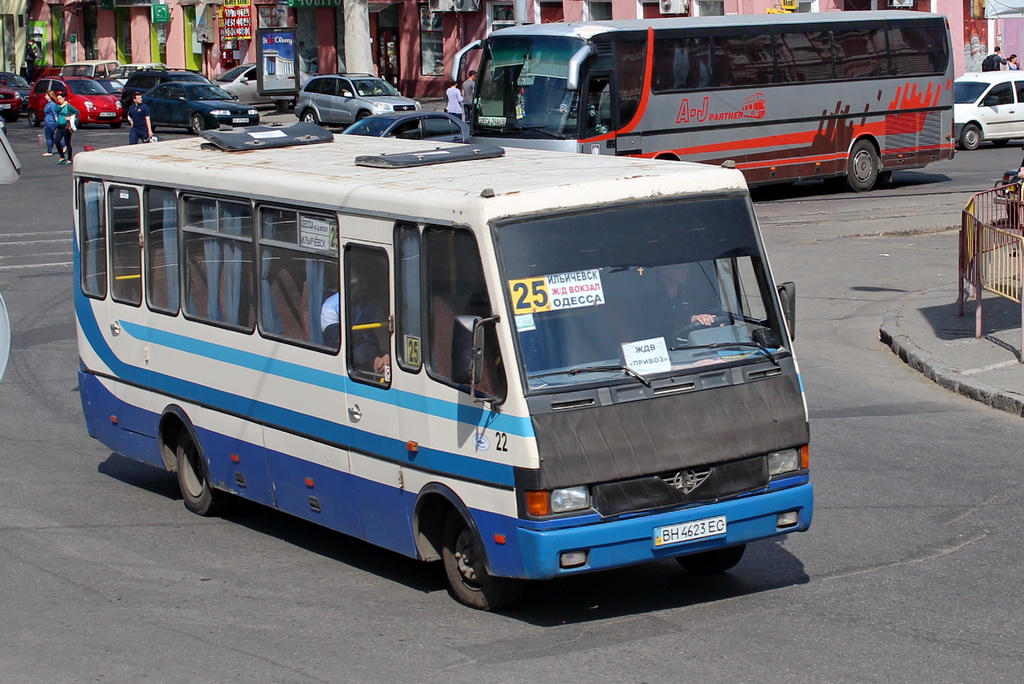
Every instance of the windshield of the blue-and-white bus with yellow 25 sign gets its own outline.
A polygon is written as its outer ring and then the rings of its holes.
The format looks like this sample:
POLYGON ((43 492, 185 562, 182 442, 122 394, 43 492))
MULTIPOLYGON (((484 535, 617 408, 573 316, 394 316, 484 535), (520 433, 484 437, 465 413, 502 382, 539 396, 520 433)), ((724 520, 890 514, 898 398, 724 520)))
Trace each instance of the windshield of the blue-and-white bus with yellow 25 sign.
POLYGON ((788 355, 742 198, 514 222, 497 241, 531 391, 788 355))

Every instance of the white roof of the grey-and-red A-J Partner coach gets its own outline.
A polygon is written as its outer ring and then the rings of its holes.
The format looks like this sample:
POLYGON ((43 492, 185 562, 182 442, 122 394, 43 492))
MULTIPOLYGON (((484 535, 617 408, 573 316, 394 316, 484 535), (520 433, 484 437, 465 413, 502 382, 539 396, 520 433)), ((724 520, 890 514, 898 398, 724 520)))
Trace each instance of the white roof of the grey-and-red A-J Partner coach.
MULTIPOLYGON (((712 29, 736 27, 775 27, 787 24, 852 24, 860 22, 897 22, 942 16, 906 10, 867 12, 793 12, 786 14, 728 14, 725 16, 676 16, 654 19, 622 19, 608 22, 571 22, 568 24, 528 24, 496 31, 496 36, 526 34, 530 36, 570 36, 593 38, 605 33, 671 29, 712 29)), ((944 18, 944 17, 943 17, 944 18)))

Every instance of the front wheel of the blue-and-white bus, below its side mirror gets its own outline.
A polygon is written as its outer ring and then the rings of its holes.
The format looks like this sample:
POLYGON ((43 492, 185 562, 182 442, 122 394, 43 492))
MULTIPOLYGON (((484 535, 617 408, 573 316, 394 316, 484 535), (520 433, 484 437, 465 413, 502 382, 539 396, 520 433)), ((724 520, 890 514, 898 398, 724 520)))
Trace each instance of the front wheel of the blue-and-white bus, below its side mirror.
POLYGON ((443 539, 441 559, 456 600, 479 610, 498 610, 519 596, 521 582, 487 572, 483 543, 459 513, 449 514, 443 539))

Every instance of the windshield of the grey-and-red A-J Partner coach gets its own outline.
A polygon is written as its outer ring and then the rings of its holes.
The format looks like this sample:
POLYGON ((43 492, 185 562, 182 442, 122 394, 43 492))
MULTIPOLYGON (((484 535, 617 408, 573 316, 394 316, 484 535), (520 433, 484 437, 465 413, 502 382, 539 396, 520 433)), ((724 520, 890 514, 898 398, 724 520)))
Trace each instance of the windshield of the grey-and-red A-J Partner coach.
POLYGON ((477 132, 516 137, 575 137, 579 91, 566 89, 577 38, 501 36, 487 39, 480 61, 477 132))

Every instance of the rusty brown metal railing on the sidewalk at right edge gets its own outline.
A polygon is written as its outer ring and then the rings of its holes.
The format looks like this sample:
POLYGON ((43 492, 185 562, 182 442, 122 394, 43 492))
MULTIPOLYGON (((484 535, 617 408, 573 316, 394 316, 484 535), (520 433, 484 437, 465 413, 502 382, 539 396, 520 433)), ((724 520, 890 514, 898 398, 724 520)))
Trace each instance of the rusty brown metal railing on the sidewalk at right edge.
MULTIPOLYGON (((975 338, 981 337, 983 290, 1021 304, 1024 339, 1024 202, 1021 183, 978 193, 961 218, 956 313, 964 315, 965 290, 975 301, 975 338)), ((1024 354, 1021 355, 1024 362, 1024 354)))

